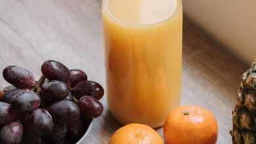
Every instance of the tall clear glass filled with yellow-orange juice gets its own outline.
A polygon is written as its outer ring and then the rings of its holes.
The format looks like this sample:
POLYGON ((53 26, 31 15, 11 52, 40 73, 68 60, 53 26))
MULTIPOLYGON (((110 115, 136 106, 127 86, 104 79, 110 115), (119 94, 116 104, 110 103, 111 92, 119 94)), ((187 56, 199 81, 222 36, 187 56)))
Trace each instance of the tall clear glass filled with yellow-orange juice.
POLYGON ((181 100, 181 0, 104 0, 108 107, 158 128, 181 100))

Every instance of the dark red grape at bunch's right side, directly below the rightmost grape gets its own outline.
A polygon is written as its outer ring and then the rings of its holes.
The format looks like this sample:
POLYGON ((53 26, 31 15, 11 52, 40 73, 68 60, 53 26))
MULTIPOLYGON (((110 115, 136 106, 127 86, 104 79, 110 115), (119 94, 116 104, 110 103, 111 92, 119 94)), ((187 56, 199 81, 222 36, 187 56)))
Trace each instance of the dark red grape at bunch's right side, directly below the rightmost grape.
POLYGON ((83 96, 79 99, 78 105, 83 117, 96 118, 103 112, 103 105, 91 96, 83 96))

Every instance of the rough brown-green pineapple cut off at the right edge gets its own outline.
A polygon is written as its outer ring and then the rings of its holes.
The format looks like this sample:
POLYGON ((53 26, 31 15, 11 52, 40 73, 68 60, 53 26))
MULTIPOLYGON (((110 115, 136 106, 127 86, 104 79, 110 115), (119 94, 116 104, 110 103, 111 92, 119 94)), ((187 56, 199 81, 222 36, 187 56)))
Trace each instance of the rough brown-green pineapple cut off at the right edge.
POLYGON ((232 117, 230 134, 233 144, 256 144, 256 60, 242 75, 232 117))

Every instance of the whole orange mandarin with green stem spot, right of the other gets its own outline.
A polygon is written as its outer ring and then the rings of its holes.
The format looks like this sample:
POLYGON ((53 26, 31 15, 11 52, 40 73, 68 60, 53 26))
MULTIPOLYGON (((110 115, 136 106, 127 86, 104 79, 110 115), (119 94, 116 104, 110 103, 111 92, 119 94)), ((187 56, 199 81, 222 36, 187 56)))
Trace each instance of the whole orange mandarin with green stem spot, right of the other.
POLYGON ((217 120, 211 111, 199 105, 177 107, 163 126, 167 144, 215 144, 217 120))

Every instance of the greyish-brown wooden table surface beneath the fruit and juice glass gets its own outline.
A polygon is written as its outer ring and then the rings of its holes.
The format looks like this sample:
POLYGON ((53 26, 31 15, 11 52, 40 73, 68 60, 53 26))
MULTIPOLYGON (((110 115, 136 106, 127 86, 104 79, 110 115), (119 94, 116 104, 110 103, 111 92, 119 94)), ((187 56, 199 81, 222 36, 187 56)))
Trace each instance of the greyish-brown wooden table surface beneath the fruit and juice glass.
MULTIPOLYGON (((100 5, 100 0, 1 0, 0 71, 21 65, 38 78, 41 63, 53 59, 83 69, 89 79, 104 85, 100 5)), ((227 144, 236 90, 246 66, 222 47, 184 18, 182 104, 213 111, 219 122, 218 143, 227 144)), ((3 77, 0 82, 7 84, 3 77)), ((85 143, 108 143, 121 126, 108 112, 106 96, 102 102, 104 115, 95 120, 85 143)))

